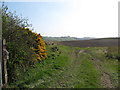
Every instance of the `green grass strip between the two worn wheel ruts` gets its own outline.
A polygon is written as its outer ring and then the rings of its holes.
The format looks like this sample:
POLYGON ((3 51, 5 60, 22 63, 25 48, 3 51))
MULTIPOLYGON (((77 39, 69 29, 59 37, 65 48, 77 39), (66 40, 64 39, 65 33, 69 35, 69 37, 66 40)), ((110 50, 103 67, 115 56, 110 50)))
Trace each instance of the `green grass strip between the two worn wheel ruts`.
POLYGON ((82 53, 80 55, 81 65, 78 72, 78 84, 75 88, 100 88, 100 72, 96 69, 89 55, 82 53))

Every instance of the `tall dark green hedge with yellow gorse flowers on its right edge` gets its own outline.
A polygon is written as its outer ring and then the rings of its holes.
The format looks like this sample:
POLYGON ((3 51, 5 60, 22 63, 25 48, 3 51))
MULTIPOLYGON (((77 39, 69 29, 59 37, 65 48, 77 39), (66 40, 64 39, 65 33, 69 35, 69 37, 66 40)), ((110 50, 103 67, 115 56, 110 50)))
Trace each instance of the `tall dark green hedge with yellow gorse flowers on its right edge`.
POLYGON ((27 68, 46 58, 46 46, 40 34, 30 30, 27 19, 8 11, 2 4, 2 37, 9 51, 7 61, 8 82, 19 80, 27 68))

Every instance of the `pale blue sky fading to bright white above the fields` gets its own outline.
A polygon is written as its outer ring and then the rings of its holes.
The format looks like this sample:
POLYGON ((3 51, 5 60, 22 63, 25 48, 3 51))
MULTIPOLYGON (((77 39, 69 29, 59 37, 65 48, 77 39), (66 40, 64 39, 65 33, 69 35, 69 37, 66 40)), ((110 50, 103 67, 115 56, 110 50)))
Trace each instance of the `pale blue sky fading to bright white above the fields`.
POLYGON ((10 11, 28 17, 34 31, 42 36, 118 36, 119 0, 4 1, 9 1, 10 11))

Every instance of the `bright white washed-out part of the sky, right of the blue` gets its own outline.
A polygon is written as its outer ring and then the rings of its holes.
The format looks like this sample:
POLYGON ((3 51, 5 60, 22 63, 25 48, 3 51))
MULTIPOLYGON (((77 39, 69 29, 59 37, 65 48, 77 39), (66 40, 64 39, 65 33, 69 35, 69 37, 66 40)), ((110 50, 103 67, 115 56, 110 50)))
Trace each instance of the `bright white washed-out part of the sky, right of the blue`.
POLYGON ((74 0, 72 10, 56 27, 59 33, 83 37, 118 36, 118 2, 115 0, 74 0))

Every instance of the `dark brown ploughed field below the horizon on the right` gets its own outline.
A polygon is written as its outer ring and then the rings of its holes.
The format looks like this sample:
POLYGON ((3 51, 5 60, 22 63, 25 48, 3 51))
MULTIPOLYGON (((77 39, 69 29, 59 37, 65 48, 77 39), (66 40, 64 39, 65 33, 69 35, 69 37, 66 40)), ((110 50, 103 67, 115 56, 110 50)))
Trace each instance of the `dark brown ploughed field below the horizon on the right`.
POLYGON ((91 40, 62 41, 61 44, 74 47, 113 47, 118 46, 118 42, 120 42, 120 38, 100 38, 91 40))

